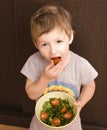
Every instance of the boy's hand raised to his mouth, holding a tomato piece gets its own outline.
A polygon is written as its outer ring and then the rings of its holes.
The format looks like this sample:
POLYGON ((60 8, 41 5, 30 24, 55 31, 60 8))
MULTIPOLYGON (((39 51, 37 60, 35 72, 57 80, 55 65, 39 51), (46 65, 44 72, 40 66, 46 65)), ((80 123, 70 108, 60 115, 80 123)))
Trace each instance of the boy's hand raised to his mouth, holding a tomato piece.
POLYGON ((42 76, 47 80, 52 80, 57 78, 63 69, 64 67, 62 61, 60 61, 57 65, 54 65, 53 60, 51 60, 50 64, 45 68, 42 76))

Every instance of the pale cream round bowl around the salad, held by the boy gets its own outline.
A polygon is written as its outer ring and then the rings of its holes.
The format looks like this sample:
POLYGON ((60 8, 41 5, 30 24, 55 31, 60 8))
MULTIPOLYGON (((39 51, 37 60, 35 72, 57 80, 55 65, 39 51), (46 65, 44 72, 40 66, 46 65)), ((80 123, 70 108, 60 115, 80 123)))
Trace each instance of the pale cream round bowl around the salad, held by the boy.
POLYGON ((76 119, 76 116, 78 114, 78 107, 77 105, 74 104, 74 98, 68 94, 68 93, 65 93, 65 92, 50 92, 50 93, 47 93, 45 95, 43 95, 36 103, 36 106, 35 106, 35 114, 38 118, 38 120, 44 124, 45 126, 49 127, 49 128, 56 128, 56 129, 62 129, 68 125, 70 125, 71 123, 73 123, 76 119), (68 123, 67 125, 64 125, 64 126, 50 126, 50 125, 47 125, 45 124, 44 122, 41 121, 40 119, 40 113, 41 113, 41 110, 42 110, 42 106, 44 104, 44 102, 46 101, 49 101, 50 98, 61 98, 61 99, 67 99, 69 104, 72 106, 73 105, 73 113, 74 113, 74 116, 73 116, 73 119, 71 120, 70 123, 68 123))

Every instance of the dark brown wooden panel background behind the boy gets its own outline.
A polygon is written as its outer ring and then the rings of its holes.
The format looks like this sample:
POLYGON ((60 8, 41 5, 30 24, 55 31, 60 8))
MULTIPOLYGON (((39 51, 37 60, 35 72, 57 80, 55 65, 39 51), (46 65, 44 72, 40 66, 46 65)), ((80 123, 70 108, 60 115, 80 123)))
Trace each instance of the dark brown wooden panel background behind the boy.
POLYGON ((24 91, 20 69, 37 51, 29 20, 45 4, 60 5, 73 14, 75 38, 71 49, 99 72, 94 98, 81 112, 84 130, 107 130, 107 0, 0 1, 0 123, 28 127, 35 103, 24 91))

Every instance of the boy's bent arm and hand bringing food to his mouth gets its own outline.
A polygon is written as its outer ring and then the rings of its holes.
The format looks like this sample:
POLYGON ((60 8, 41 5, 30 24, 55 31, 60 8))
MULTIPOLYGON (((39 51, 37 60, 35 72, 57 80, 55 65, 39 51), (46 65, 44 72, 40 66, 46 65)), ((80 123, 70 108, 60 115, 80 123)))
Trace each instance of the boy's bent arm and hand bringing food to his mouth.
POLYGON ((32 82, 30 79, 26 80, 25 90, 30 99, 35 100, 40 97, 45 91, 48 83, 59 76, 63 70, 62 62, 54 66, 53 61, 45 68, 39 79, 32 82))

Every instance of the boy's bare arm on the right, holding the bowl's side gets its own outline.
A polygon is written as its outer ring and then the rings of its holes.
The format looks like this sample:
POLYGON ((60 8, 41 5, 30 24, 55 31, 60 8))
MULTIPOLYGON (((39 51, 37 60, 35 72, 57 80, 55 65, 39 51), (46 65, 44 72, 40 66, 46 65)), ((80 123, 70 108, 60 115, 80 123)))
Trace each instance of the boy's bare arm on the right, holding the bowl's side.
POLYGON ((86 85, 82 86, 82 90, 76 104, 81 110, 85 104, 93 97, 95 92, 95 81, 92 81, 86 85))

